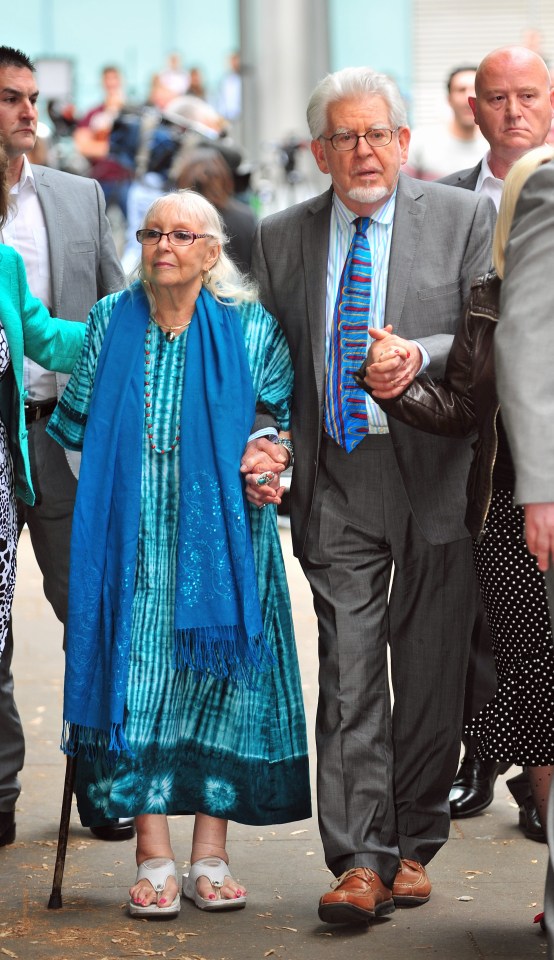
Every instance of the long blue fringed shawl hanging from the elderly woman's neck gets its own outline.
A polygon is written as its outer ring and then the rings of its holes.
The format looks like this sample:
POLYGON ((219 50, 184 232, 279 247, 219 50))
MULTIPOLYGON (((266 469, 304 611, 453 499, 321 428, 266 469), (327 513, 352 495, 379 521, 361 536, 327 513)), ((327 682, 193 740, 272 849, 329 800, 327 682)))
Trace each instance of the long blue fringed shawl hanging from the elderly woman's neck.
MULTIPOLYGON (((119 298, 98 358, 71 540, 62 738, 70 754, 128 749, 149 322, 137 282, 119 298)), ((274 662, 239 471, 254 415, 239 311, 202 289, 188 331, 180 444, 165 454, 180 458, 174 665, 245 683, 274 662)))

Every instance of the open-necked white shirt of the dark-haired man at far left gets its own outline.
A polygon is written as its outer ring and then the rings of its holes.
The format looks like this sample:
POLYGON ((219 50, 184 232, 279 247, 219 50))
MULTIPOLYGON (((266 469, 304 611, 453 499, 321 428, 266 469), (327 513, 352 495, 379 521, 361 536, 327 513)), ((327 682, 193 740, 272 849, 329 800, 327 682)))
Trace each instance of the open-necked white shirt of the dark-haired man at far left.
MULTIPOLYGON (((21 254, 31 293, 51 310, 48 233, 33 170, 25 154, 21 177, 11 188, 10 196, 11 211, 2 230, 2 240, 21 254)), ((56 396, 56 375, 28 357, 23 367, 23 384, 29 400, 52 400, 56 396)))

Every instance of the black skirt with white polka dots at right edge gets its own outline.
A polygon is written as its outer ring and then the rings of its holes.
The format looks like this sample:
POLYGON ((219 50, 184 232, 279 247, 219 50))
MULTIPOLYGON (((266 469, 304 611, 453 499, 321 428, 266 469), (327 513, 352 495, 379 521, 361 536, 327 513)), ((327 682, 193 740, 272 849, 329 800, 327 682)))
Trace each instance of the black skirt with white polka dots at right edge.
POLYGON ((481 759, 554 763, 554 643, 546 587, 525 545, 523 509, 495 490, 473 556, 489 623, 498 689, 466 727, 481 759))

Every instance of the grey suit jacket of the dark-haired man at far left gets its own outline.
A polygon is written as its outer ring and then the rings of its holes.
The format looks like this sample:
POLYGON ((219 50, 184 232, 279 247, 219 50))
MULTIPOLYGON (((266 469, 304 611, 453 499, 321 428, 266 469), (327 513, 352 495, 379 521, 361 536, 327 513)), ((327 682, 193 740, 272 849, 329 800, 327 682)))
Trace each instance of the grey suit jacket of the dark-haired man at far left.
MULTIPOLYGON (((52 313, 84 321, 97 300, 125 286, 104 194, 88 177, 38 165, 33 174, 48 234, 52 313)), ((68 379, 56 374, 58 397, 68 379)), ((75 473, 80 455, 66 455, 75 473)))

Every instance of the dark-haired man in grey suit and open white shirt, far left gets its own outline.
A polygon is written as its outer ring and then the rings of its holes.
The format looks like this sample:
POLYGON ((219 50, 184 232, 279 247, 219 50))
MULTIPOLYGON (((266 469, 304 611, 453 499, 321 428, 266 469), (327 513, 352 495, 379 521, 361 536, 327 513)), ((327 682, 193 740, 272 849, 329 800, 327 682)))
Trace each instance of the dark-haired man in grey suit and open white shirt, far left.
MULTIPOLYGON (((29 286, 58 317, 86 320, 94 303, 121 289, 124 276, 94 180, 31 166, 25 151, 36 138, 38 89, 34 66, 12 47, 0 47, 0 137, 9 158, 13 213, 2 242, 25 261, 29 286)), ((64 451, 46 434, 48 418, 67 378, 25 361, 25 420, 36 501, 18 501, 19 530, 27 523, 44 579, 44 592, 59 620, 67 610, 69 540, 76 479, 64 451)), ((0 661, 0 846, 15 839, 25 740, 14 699, 8 631, 0 661)), ((132 822, 107 825, 132 835, 132 822)))

